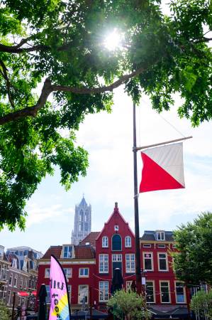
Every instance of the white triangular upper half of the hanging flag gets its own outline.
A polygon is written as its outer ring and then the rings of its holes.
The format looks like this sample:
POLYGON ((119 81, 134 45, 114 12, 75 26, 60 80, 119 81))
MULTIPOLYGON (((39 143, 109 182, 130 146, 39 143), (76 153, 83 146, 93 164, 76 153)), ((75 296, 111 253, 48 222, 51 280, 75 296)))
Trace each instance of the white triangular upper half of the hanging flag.
POLYGON ((142 151, 168 174, 185 186, 183 166, 183 144, 166 144, 142 151))

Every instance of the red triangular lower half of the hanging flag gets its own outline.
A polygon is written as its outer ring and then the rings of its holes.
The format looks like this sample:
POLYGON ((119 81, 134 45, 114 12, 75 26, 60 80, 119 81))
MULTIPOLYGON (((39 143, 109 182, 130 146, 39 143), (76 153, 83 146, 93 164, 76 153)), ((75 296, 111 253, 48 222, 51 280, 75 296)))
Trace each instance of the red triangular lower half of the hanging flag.
POLYGON ((184 188, 149 156, 141 152, 143 160, 142 180, 139 192, 184 188))

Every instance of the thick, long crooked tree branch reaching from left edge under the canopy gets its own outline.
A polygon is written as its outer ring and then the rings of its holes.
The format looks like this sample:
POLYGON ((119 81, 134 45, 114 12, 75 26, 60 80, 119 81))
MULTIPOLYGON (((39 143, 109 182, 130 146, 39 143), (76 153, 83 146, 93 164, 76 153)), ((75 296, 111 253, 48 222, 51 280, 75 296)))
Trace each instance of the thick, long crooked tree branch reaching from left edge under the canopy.
POLYGON ((145 68, 138 68, 138 70, 133 71, 128 75, 123 75, 120 79, 113 82, 111 85, 104 85, 103 87, 65 87, 62 85, 52 85, 49 78, 47 78, 44 82, 42 92, 38 99, 38 102, 33 107, 26 107, 22 110, 17 110, 15 112, 11 112, 9 114, 0 117, 0 125, 6 124, 8 122, 21 119, 23 117, 36 117, 38 111, 45 105, 45 102, 48 100, 48 96, 53 91, 62 91, 62 92, 72 92, 77 93, 79 95, 86 95, 86 94, 98 94, 104 93, 108 91, 113 91, 116 87, 122 85, 125 81, 130 80, 140 73, 143 73, 146 69, 145 68))

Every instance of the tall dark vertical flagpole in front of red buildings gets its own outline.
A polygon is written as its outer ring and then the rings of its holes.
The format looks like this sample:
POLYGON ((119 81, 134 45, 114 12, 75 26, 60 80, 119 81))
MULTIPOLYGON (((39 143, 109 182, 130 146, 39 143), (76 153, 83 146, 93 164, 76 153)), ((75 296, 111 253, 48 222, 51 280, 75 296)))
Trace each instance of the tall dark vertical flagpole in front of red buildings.
POLYGON ((134 215, 135 215, 135 274, 138 294, 141 294, 140 271, 140 235, 138 214, 138 176, 137 176, 137 147, 136 147, 136 117, 135 103, 133 102, 133 164, 134 164, 134 215))

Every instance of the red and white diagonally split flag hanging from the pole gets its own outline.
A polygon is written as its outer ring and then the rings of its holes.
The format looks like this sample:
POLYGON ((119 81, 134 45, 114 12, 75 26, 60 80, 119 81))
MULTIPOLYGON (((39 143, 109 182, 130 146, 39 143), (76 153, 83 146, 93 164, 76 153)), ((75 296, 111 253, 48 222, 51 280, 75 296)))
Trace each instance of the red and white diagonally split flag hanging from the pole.
POLYGON ((146 149, 141 152, 141 157, 140 193, 185 188, 182 142, 146 149))

